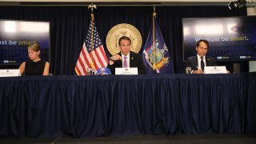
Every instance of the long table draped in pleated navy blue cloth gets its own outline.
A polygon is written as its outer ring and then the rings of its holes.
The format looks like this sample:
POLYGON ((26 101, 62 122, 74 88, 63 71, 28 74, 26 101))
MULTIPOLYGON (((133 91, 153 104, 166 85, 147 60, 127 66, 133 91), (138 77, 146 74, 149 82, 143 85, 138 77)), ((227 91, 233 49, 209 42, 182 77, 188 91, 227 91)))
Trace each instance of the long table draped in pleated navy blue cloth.
POLYGON ((0 136, 255 134, 256 73, 0 78, 0 136))

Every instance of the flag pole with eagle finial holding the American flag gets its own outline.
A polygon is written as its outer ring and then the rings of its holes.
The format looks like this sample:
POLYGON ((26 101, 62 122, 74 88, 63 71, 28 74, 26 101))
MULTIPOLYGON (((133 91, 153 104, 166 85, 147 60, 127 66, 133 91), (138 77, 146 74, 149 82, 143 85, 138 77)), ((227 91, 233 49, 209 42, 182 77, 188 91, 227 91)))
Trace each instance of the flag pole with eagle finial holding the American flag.
POLYGON ((90 48, 91 48, 91 52, 90 52, 90 59, 91 59, 91 62, 90 62, 90 68, 94 69, 94 56, 93 56, 93 51, 94 51, 94 9, 96 10, 97 7, 94 3, 91 3, 89 6, 88 6, 88 9, 91 10, 91 13, 90 13, 90 48))

